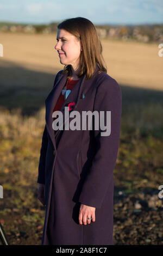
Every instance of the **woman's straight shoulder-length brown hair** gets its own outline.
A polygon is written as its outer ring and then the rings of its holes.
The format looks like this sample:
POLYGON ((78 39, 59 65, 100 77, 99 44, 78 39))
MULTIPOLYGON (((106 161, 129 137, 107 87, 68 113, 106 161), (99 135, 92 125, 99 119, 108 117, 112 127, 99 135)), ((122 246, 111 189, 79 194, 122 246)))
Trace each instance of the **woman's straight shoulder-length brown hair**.
MULTIPOLYGON (((99 40, 96 28, 90 20, 83 17, 76 17, 66 19, 59 23, 58 29, 65 29, 65 31, 76 36, 81 40, 83 51, 80 53, 80 71, 77 76, 81 77, 86 72, 86 79, 90 79, 95 72, 96 63, 99 66, 98 73, 107 72, 106 64, 102 56, 102 44, 99 40), (103 62, 105 65, 103 65, 103 62)), ((65 65, 63 74, 72 75, 71 65, 65 65)))

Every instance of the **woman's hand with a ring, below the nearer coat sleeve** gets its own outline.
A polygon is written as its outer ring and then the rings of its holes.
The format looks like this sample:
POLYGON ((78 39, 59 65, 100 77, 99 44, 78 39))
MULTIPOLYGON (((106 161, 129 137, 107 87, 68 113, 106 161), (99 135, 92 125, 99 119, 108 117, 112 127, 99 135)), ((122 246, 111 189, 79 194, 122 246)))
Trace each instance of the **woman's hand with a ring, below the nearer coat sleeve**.
POLYGON ((91 220, 88 220, 87 217, 92 217, 92 222, 95 222, 95 211, 96 208, 92 206, 88 206, 85 204, 80 205, 79 210, 79 224, 87 225, 91 223, 91 220))

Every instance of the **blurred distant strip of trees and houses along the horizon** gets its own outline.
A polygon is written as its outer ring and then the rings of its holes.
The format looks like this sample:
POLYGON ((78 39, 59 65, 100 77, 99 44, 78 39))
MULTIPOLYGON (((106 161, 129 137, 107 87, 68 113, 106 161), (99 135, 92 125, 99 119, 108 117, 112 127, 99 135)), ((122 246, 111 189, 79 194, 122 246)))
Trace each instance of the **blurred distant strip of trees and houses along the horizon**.
MULTIPOLYGON (((30 25, 21 23, 0 22, 1 32, 20 33, 57 33, 59 22, 49 25, 30 25)), ((118 39, 123 41, 136 40, 141 42, 163 42, 163 25, 114 26, 96 25, 99 38, 118 39)))

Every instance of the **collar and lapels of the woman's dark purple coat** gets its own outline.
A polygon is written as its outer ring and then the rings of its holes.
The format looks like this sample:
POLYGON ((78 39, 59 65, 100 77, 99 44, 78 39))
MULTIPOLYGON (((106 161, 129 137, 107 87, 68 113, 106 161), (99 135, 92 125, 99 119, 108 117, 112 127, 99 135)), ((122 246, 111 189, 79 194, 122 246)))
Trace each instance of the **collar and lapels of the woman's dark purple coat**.
MULTIPOLYGON (((96 70, 93 76, 95 76, 96 72, 99 70, 99 67, 96 63, 96 70)), ((80 95, 83 92, 83 87, 84 87, 84 81, 86 78, 86 74, 84 74, 82 77, 79 78, 79 81, 77 82, 76 86, 72 89, 70 95, 68 95, 67 99, 65 100, 64 104, 62 105, 61 109, 59 109, 62 112, 62 115, 64 117, 64 112, 65 112, 65 106, 68 106, 68 103, 70 102, 76 102, 76 105, 74 106, 73 110, 76 109, 79 103, 80 95)), ((53 109, 54 106, 57 103, 58 97, 61 93, 62 88, 65 86, 67 80, 67 74, 61 74, 60 77, 58 78, 57 83, 55 84, 55 87, 52 88, 51 92, 47 96, 45 100, 45 105, 46 105, 46 127, 49 133, 49 136, 51 137, 51 140, 54 145, 54 149, 57 151, 56 148, 56 137, 59 135, 61 130, 53 130, 52 123, 53 123, 53 109)), ((63 122, 63 126, 65 124, 65 121, 63 122)))

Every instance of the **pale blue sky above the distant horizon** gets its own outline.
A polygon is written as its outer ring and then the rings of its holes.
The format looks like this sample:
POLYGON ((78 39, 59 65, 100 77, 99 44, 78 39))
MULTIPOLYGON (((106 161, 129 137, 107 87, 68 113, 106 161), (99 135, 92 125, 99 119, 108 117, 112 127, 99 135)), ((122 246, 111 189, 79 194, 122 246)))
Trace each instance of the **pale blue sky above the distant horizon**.
POLYGON ((163 23, 163 0, 0 0, 0 21, 47 24, 78 16, 95 25, 163 23))

